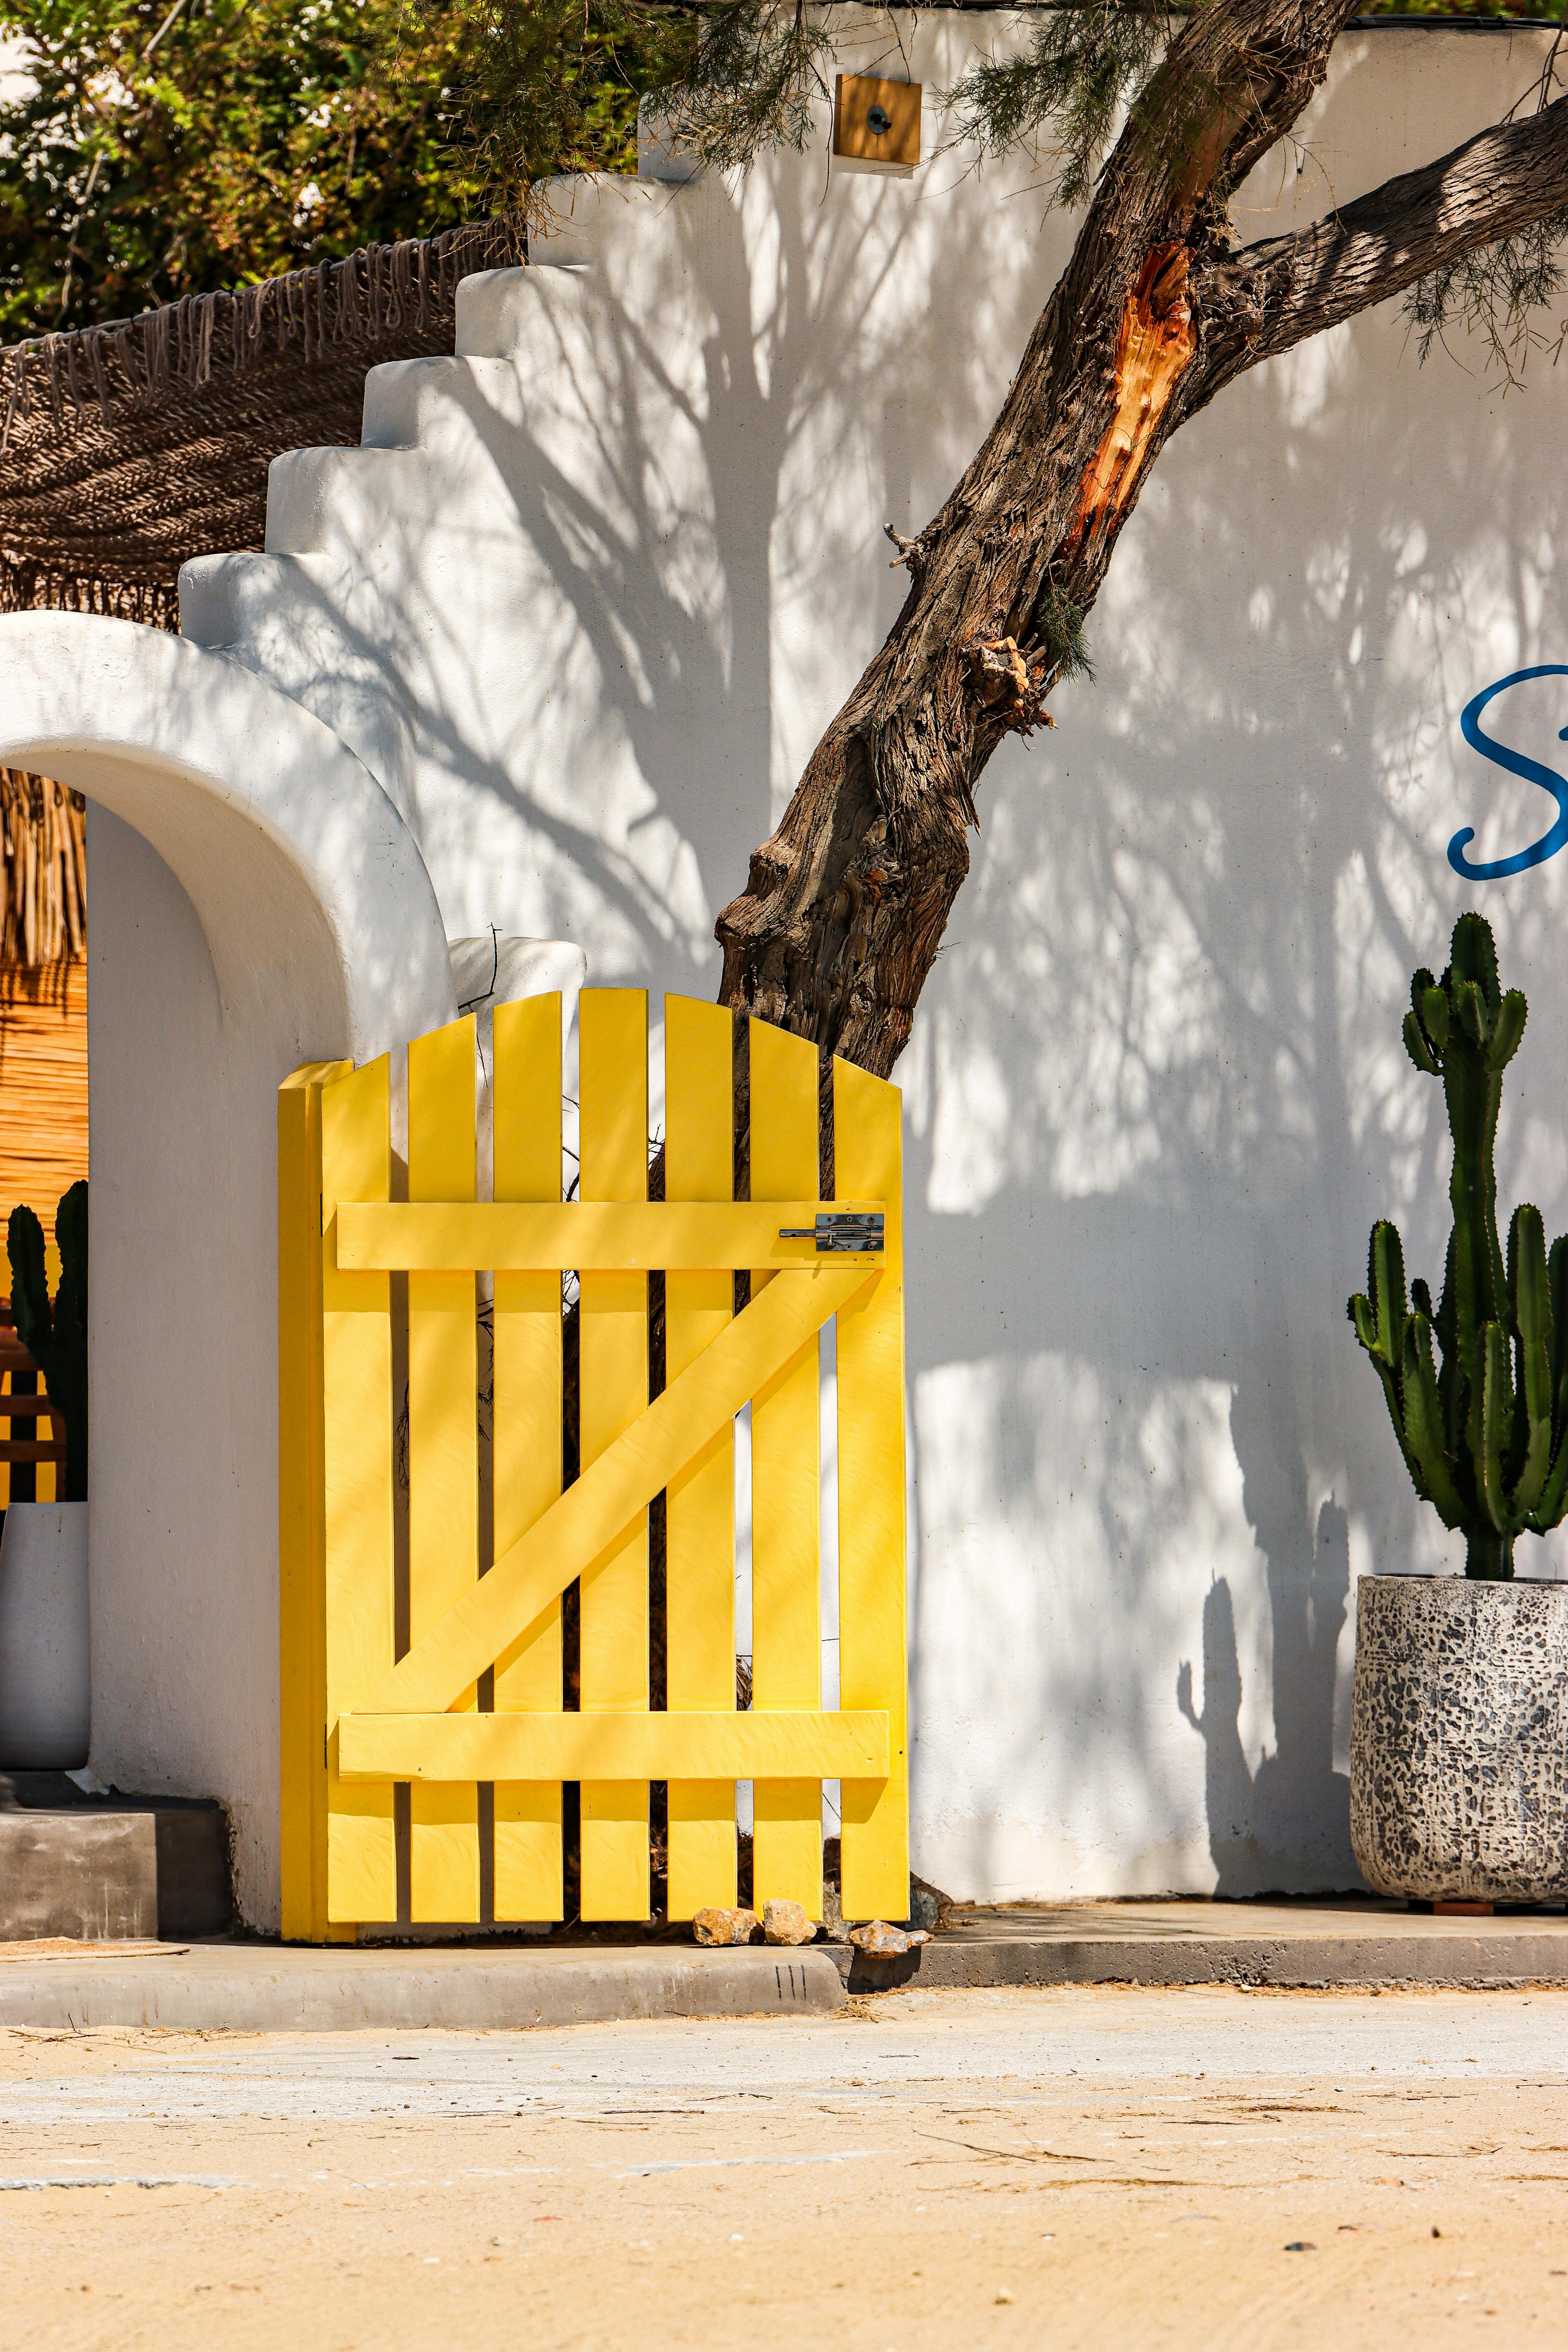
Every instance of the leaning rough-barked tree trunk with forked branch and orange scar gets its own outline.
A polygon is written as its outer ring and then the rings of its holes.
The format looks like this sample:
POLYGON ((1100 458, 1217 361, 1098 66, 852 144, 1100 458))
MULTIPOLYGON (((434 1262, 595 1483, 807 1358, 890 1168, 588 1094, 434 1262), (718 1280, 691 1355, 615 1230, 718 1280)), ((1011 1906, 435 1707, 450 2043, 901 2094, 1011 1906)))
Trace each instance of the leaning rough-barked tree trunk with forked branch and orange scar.
POLYGON ((1124 129, 910 595, 724 908, 719 1002, 886 1077, 969 873, 973 793, 1044 699, 1168 435, 1244 369, 1568 205, 1568 99, 1314 228, 1237 249, 1225 193, 1356 0, 1213 0, 1124 129))

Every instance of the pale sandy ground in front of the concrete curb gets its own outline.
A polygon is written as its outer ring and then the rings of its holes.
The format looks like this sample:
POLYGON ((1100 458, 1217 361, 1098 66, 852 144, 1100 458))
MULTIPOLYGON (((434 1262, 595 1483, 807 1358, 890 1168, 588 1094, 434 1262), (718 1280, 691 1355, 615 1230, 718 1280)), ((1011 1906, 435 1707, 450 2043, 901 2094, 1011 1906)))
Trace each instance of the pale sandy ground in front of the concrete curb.
POLYGON ((1568 2343, 1568 1992, 0 2034, 7 2345, 1568 2343))

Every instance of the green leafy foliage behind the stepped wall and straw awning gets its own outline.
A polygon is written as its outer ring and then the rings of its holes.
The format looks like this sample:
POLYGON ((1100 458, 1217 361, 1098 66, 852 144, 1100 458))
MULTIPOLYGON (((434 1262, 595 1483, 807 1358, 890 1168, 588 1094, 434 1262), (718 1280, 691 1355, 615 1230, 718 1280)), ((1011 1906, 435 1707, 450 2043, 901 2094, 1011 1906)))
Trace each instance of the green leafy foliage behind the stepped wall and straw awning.
POLYGON ((635 167, 649 80, 621 0, 0 0, 2 33, 33 82, 0 103, 5 341, 635 167))

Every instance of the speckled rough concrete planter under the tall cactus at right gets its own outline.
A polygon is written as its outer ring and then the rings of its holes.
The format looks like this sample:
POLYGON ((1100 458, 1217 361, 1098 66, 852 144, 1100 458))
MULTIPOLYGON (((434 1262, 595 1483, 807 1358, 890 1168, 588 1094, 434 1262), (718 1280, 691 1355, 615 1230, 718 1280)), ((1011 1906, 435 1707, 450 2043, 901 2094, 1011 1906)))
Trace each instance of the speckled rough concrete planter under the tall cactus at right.
POLYGON ((1349 1839, 1385 1896, 1568 1896, 1568 1585, 1359 1578, 1349 1839))

